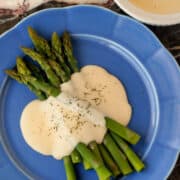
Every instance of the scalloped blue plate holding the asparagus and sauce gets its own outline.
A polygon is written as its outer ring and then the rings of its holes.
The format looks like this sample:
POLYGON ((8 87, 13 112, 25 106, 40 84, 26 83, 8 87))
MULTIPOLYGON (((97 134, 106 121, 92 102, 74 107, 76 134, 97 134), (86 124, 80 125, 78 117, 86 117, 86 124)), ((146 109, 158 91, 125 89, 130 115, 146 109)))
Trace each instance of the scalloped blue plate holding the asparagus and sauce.
MULTIPOLYGON (((35 13, 0 36, 0 179, 65 179, 62 161, 33 151, 24 141, 19 119, 35 96, 7 78, 3 70, 31 47, 27 27, 50 39, 53 31, 72 34, 79 65, 96 64, 118 77, 133 107, 130 127, 142 135, 133 147, 146 169, 123 179, 165 179, 180 148, 180 72, 155 35, 139 22, 96 6, 72 6, 35 13)), ((118 98, 118 97, 117 97, 118 98)), ((80 179, 97 179, 76 166, 80 179)), ((78 178, 78 179, 79 179, 78 178)))

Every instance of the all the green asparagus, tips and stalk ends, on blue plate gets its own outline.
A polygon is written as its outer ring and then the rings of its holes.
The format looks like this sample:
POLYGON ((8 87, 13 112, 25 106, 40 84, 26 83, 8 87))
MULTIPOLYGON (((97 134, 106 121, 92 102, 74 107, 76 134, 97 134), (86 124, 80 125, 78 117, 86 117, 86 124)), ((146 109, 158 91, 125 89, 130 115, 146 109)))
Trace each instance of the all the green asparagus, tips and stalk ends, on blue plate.
MULTIPOLYGON (((6 70, 6 73, 25 84, 40 100, 48 96, 56 97, 60 93, 60 83, 68 81, 71 74, 79 70, 70 35, 64 32, 59 38, 54 32, 50 45, 33 28, 29 27, 28 32, 35 49, 22 47, 22 51, 39 65, 18 57, 16 67, 6 70)), ((93 168, 102 180, 117 177, 121 173, 127 175, 133 169, 139 172, 144 168, 143 162, 128 144, 138 143, 140 136, 109 117, 105 120, 108 133, 102 144, 91 142, 86 146, 79 143, 70 156, 63 158, 67 180, 76 179, 73 164, 80 162, 83 162, 86 170, 93 168)))

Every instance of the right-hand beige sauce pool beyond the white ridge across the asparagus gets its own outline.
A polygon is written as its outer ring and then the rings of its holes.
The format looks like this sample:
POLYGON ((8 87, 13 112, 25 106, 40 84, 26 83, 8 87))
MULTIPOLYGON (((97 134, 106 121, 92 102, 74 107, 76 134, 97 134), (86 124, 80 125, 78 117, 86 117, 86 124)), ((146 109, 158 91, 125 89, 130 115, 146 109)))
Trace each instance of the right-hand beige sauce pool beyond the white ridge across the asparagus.
POLYGON ((123 84, 105 69, 85 66, 80 73, 74 73, 71 81, 61 86, 62 91, 89 102, 105 115, 127 125, 131 117, 123 84))

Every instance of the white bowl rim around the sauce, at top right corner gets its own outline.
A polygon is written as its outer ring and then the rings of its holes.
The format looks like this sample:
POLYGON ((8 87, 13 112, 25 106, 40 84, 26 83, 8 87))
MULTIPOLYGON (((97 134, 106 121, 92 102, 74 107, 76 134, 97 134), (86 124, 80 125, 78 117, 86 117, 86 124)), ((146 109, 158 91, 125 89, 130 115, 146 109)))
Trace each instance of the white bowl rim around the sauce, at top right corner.
MULTIPOLYGON (((174 14, 156 14, 146 12, 128 0, 114 0, 115 3, 132 17, 152 25, 173 25, 180 23, 180 12, 174 14)), ((146 1, 146 0, 145 0, 146 1)), ((170 0, 169 0, 170 1, 170 0)))

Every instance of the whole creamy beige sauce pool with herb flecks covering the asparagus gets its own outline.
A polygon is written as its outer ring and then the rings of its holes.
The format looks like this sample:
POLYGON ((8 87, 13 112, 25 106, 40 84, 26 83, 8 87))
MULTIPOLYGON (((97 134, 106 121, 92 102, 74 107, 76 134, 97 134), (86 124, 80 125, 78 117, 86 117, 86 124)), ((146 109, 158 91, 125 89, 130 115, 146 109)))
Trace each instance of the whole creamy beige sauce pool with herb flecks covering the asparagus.
POLYGON ((85 66, 61 85, 61 94, 34 100, 23 110, 20 126, 27 144, 56 159, 69 155, 79 142, 101 143, 105 116, 127 125, 131 106, 121 82, 98 66, 85 66))

